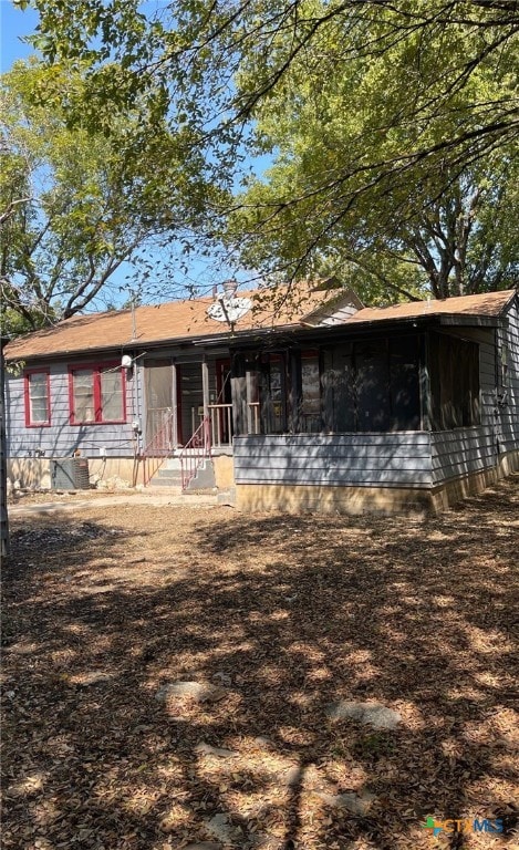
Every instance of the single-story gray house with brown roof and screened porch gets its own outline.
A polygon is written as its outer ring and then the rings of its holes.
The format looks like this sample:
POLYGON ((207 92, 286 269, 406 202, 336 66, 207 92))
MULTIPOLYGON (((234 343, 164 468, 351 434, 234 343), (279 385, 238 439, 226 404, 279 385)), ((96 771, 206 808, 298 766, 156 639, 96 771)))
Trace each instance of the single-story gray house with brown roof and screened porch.
POLYGON ((228 289, 74 317, 6 360, 22 485, 79 455, 132 484, 180 467, 245 510, 436 510, 519 468, 515 290, 364 308, 334 280, 228 289))

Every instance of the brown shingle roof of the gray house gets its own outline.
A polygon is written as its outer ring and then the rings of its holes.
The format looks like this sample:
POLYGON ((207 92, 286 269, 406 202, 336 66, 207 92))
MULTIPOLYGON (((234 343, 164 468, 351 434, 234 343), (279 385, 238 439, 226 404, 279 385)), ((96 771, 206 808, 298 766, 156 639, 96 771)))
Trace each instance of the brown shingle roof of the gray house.
MULTIPOLYGON (((291 297, 283 294, 281 288, 278 289, 273 302, 269 302, 264 291, 238 292, 239 297, 252 297, 255 308, 236 323, 236 331, 300 326, 303 319, 321 304, 336 299, 340 305, 344 292, 338 289, 315 291, 309 284, 300 284, 293 290, 291 297), (261 300, 262 298, 264 300, 261 300)), ((386 308, 363 308, 345 319, 344 324, 439 314, 497 317, 513 294, 515 290, 506 290, 481 296, 450 298, 445 301, 417 301, 386 308)), ((201 298, 154 307, 138 307, 135 310, 135 320, 132 318, 131 310, 73 317, 54 328, 13 340, 6 349, 6 359, 22 360, 58 354, 80 354, 174 340, 196 340, 229 332, 225 323, 217 322, 207 315, 206 310, 211 303, 211 298, 201 298), (134 321, 135 339, 133 339, 134 321)))

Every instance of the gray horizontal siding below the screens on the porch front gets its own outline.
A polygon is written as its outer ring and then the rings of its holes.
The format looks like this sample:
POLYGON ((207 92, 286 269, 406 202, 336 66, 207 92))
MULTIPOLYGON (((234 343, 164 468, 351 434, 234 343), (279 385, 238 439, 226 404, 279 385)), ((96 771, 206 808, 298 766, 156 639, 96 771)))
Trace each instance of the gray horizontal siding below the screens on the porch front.
POLYGON ((427 487, 424 432, 236 437, 237 484, 427 487))

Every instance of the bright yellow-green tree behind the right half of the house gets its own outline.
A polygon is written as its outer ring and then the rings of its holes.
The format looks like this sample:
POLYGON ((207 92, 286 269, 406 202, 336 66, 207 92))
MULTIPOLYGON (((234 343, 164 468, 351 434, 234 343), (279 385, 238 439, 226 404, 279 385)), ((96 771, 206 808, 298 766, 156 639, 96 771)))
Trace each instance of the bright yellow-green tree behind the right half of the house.
MULTIPOLYGON (((276 164, 264 179, 248 180, 229 238, 248 262, 267 267, 274 256, 292 273, 336 274, 369 301, 513 286, 519 194, 511 138, 464 163, 442 157, 435 169, 426 159, 415 163, 405 179, 386 164, 406 146, 432 151, 449 132, 463 133, 474 105, 511 101, 516 80, 481 64, 453 94, 448 120, 434 126, 412 115, 421 35, 414 49, 408 37, 369 62, 344 62, 342 34, 321 30, 283 84, 258 104, 256 144, 276 164)), ((456 50, 461 61, 473 38, 460 29, 449 54, 456 50)), ((427 50, 440 56, 443 38, 427 50)), ((248 74, 257 75, 255 58, 243 72, 246 86, 248 74)))

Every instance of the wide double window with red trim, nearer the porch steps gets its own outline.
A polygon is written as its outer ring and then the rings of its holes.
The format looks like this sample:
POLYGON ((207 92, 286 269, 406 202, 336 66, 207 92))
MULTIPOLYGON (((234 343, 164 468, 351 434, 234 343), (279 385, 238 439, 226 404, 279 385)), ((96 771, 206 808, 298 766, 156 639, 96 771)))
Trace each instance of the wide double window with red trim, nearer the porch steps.
POLYGON ((74 366, 69 372, 72 425, 126 421, 124 374, 120 364, 74 366))

